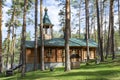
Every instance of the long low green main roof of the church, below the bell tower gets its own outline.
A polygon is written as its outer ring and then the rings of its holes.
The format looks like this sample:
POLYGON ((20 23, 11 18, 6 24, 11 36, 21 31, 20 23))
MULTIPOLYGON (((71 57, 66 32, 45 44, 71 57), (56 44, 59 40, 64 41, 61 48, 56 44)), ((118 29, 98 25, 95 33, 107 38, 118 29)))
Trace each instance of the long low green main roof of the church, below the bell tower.
MULTIPOLYGON (((64 47, 65 40, 63 38, 53 38, 50 40, 44 41, 45 47, 64 47)), ((90 47, 97 47, 97 43, 93 40, 89 40, 88 45, 90 47)), ((40 40, 38 40, 38 46, 41 46, 40 40)), ((69 39, 69 46, 70 47, 86 47, 86 40, 85 39, 78 39, 78 38, 71 38, 69 39)), ((27 48, 34 47, 34 41, 26 41, 27 48)))

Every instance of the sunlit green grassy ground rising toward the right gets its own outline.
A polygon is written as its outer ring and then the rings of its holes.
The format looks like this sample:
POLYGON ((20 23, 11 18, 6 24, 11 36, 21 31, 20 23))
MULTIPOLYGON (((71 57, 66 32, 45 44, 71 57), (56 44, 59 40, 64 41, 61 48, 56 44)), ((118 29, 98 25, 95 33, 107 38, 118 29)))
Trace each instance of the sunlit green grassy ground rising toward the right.
POLYGON ((115 60, 108 60, 100 64, 81 64, 80 69, 64 72, 64 68, 55 68, 53 72, 27 72, 24 78, 20 74, 11 77, 1 76, 0 80, 120 80, 120 56, 115 60))

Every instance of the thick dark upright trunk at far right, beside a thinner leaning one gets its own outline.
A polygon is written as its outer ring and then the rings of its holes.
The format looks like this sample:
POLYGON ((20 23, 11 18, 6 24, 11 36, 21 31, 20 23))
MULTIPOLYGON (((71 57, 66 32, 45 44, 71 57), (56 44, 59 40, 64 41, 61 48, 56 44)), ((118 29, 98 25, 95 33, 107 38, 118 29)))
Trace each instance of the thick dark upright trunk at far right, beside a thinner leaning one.
POLYGON ((115 59, 115 51, 114 51, 114 0, 110 0, 110 13, 111 13, 111 22, 110 22, 110 26, 111 26, 111 53, 112 53, 112 60, 115 59))

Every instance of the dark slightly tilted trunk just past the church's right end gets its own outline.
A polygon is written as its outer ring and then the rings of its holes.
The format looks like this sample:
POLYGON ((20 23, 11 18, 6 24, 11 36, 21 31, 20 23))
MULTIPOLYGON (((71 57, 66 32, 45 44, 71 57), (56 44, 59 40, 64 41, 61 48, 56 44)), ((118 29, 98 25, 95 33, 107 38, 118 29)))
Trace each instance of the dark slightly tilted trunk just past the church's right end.
POLYGON ((97 12, 97 26, 98 26, 98 53, 101 57, 101 61, 104 61, 103 52, 102 52, 102 37, 101 37, 101 27, 100 27, 100 18, 99 18, 99 6, 98 0, 96 0, 96 12, 97 12))

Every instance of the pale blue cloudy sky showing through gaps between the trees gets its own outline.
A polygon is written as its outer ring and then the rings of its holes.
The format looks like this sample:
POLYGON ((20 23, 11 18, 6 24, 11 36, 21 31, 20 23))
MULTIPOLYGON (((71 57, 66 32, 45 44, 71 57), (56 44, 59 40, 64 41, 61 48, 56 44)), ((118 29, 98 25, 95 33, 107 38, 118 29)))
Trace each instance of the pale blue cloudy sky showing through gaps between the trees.
MULTIPOLYGON (((59 13, 59 10, 60 10, 60 6, 58 6, 58 2, 56 2, 55 0, 43 0, 44 2, 43 2, 43 9, 45 8, 45 7, 47 7, 48 8, 48 16, 49 16, 49 18, 50 18, 50 20, 51 20, 51 22, 52 22, 52 24, 54 25, 54 27, 53 27, 53 30, 55 30, 55 31, 59 31, 59 29, 62 27, 62 26, 59 26, 59 16, 58 16, 58 13, 59 13)), ((6 12, 8 11, 8 9, 10 9, 10 6, 11 6, 11 0, 6 0, 6 5, 7 6, 4 6, 3 7, 3 23, 2 23, 2 25, 3 25, 3 27, 2 27, 2 31, 3 31, 3 40, 7 37, 7 28, 5 27, 5 23, 6 23, 6 21, 8 20, 8 18, 10 17, 10 16, 8 16, 7 14, 6 14, 6 12)), ((116 6, 116 5, 115 5, 116 6)), ((115 8, 115 9, 117 9, 117 8, 115 8)), ((38 6, 38 17, 39 17, 39 12, 40 12, 40 10, 39 10, 39 6, 38 6)), ((72 13, 75 13, 76 11, 74 10, 74 9, 71 9, 71 12, 72 13)), ((34 11, 32 11, 31 13, 34 13, 34 11)), ((44 12, 43 12, 43 15, 44 15, 44 12)), ((84 16, 85 16, 85 10, 84 9, 82 9, 82 11, 81 11, 81 15, 83 15, 83 16, 81 16, 81 17, 83 17, 84 18, 84 16)), ((107 15, 107 20, 108 20, 108 17, 109 15, 107 15)), ((34 18, 33 18, 34 19, 34 18)), ((38 24, 39 24, 39 19, 40 18, 38 18, 38 24)), ((114 23, 116 23, 117 22, 117 20, 118 20, 118 17, 117 17, 117 15, 114 15, 114 23)), ((76 21, 74 21, 74 23, 75 23, 76 21)), ((82 27, 84 27, 85 26, 85 21, 84 22, 82 22, 82 25, 81 25, 82 27)), ((117 26, 117 25, 116 25, 117 26)), ((74 26, 73 26, 74 27, 74 26)), ((27 26, 27 32, 29 32, 29 31, 31 31, 31 37, 34 37, 34 25, 28 25, 27 26)), ((81 31, 84 31, 83 29, 81 30, 81 31)), ((18 29, 17 30, 17 33, 18 34, 20 34, 20 29, 18 29)), ((73 30, 73 32, 76 32, 76 30, 73 30)))

